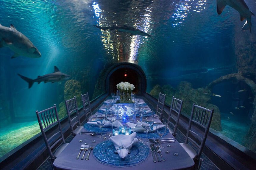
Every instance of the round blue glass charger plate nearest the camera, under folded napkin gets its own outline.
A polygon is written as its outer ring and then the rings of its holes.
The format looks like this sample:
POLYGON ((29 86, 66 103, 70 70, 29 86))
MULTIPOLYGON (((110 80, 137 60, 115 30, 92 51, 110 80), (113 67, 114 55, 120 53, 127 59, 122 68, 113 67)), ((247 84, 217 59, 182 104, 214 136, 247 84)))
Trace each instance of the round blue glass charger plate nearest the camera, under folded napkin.
POLYGON ((115 153, 115 147, 112 141, 107 140, 99 143, 93 149, 94 157, 101 163, 115 167, 134 166, 143 162, 149 155, 149 147, 138 142, 130 149, 130 154, 122 159, 118 153, 115 153))

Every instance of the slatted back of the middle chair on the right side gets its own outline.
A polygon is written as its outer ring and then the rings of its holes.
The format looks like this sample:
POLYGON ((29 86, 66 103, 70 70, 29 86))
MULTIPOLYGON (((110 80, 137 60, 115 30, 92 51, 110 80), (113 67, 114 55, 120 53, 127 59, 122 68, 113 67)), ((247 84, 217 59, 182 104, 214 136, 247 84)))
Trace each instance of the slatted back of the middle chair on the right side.
MULTIPOLYGON (((177 134, 176 131, 177 131, 177 127, 178 127, 178 124, 179 124, 179 117, 180 117, 180 113, 181 113, 181 109, 182 109, 182 104, 183 104, 183 100, 177 99, 174 96, 172 97, 171 108, 170 108, 167 120, 168 120, 168 124, 171 124, 174 127, 174 130, 173 130, 173 133, 172 133, 172 135, 174 137, 176 137, 176 134, 177 134), (171 115, 172 112, 177 113, 177 119, 175 119, 171 115), (174 125, 174 123, 172 123, 172 121, 176 122, 175 125, 174 125)), ((168 126, 168 124, 167 124, 167 126, 168 126)))

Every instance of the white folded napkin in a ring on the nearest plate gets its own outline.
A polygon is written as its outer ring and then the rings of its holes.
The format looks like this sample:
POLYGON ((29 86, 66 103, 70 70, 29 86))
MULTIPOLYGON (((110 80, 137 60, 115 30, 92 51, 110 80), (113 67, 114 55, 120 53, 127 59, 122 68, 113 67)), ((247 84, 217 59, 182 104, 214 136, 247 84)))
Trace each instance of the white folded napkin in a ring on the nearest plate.
POLYGON ((133 132, 130 135, 119 134, 110 137, 120 158, 126 158, 129 152, 128 150, 138 142, 138 139, 135 138, 136 135, 136 132, 133 132))

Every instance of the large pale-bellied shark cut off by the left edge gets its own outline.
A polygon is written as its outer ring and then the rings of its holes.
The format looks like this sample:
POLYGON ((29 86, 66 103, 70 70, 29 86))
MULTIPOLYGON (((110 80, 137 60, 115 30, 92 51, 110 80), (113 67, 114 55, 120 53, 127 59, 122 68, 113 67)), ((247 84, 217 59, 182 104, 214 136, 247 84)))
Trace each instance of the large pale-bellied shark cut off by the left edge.
POLYGON ((12 58, 25 56, 39 58, 41 53, 34 44, 11 24, 10 28, 0 24, 0 48, 9 47, 15 52, 12 58))

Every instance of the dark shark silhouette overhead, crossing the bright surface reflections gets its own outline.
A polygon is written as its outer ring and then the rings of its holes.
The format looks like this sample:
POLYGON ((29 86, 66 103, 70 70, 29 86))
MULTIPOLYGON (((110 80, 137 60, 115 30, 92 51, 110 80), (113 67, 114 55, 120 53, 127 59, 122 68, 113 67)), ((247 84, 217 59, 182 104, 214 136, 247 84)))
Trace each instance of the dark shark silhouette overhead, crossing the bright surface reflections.
POLYGON ((133 28, 133 27, 128 27, 127 25, 124 26, 116 26, 113 25, 111 27, 102 27, 102 26, 98 26, 98 25, 93 25, 99 29, 102 29, 104 31, 106 30, 118 30, 120 32, 126 32, 126 33, 130 33, 131 36, 134 35, 140 35, 140 36, 147 36, 147 37, 151 37, 151 35, 149 35, 148 33, 145 33, 137 28, 133 28))

